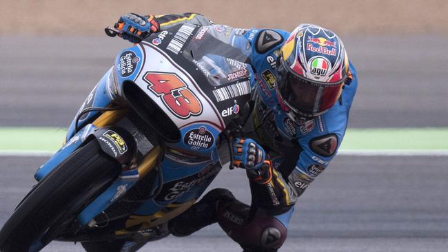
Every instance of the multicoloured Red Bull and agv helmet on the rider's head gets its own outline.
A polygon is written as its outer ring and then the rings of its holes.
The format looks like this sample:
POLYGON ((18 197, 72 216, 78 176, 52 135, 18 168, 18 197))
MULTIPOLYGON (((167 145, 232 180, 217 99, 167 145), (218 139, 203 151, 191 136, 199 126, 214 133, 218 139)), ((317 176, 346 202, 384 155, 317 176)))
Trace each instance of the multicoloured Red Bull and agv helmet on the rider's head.
POLYGON ((301 24, 277 59, 277 95, 292 120, 309 120, 338 100, 349 61, 342 41, 318 25, 301 24))

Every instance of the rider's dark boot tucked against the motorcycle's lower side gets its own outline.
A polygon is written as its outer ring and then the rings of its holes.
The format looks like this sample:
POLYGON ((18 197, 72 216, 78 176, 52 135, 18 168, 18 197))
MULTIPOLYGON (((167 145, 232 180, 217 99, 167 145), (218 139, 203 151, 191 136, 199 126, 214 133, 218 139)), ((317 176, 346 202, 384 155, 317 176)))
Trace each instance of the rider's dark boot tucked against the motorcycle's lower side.
POLYGON ((180 216, 168 222, 168 230, 175 236, 187 236, 216 222, 216 209, 219 204, 235 200, 227 189, 216 188, 180 216))

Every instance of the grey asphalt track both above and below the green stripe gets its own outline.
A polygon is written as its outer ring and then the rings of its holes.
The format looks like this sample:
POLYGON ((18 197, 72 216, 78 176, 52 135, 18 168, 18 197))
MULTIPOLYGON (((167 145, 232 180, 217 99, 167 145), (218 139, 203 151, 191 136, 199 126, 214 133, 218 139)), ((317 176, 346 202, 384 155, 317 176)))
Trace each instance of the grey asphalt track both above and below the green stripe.
MULTIPOLYGON (((67 127, 114 56, 130 45, 109 38, 0 39, 0 127, 67 127)), ((360 76, 349 127, 447 127, 446 37, 343 40, 360 76)), ((0 225, 45 159, 0 156, 0 225)), ((447 162, 446 156, 336 157, 299 198, 281 251, 447 251, 447 162)), ((214 187, 250 200, 241 170, 223 169, 214 187)), ((82 249, 54 242, 43 251, 82 249)), ((141 251, 241 249, 214 224, 141 251)))

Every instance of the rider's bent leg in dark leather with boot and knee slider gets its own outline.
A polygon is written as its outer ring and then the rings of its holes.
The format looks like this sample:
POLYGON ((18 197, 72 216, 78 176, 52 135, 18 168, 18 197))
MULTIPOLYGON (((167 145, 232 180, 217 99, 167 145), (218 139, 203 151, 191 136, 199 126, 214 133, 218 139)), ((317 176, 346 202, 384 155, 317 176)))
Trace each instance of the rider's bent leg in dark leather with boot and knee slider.
POLYGON ((261 209, 251 209, 227 189, 213 189, 207 193, 193 207, 171 220, 168 229, 173 235, 186 236, 214 222, 247 252, 276 251, 286 239, 287 230, 281 220, 261 209))

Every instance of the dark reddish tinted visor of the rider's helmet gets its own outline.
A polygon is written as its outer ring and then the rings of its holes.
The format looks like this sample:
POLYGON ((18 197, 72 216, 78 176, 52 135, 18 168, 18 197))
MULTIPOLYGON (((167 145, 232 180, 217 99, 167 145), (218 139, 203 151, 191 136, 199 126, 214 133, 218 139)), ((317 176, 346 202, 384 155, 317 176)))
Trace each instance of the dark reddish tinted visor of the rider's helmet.
POLYGON ((278 66, 278 91, 285 104, 301 116, 314 117, 332 107, 340 95, 340 83, 317 83, 294 74, 284 63, 278 66))

